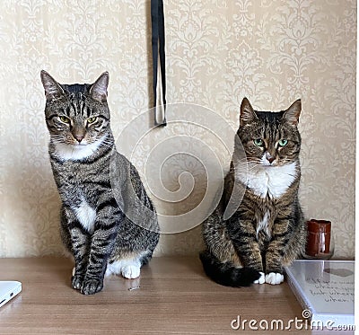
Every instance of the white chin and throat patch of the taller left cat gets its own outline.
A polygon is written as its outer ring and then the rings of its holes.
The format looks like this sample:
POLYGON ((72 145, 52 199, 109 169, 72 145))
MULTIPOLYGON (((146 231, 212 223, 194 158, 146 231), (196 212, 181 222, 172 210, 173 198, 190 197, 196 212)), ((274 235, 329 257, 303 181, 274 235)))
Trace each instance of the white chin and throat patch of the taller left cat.
POLYGON ((90 157, 100 147, 105 137, 106 135, 90 145, 86 144, 85 140, 83 140, 80 145, 55 143, 57 156, 62 161, 82 161, 83 159, 90 157))

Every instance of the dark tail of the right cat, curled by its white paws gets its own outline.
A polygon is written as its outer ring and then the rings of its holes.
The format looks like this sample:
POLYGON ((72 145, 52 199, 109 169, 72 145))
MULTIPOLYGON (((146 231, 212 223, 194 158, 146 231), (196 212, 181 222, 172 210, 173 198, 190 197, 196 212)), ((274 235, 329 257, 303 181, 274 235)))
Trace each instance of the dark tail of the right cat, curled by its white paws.
POLYGON ((201 252, 199 258, 202 260, 206 275, 225 287, 249 287, 260 277, 256 269, 238 269, 229 262, 222 263, 210 251, 201 252))

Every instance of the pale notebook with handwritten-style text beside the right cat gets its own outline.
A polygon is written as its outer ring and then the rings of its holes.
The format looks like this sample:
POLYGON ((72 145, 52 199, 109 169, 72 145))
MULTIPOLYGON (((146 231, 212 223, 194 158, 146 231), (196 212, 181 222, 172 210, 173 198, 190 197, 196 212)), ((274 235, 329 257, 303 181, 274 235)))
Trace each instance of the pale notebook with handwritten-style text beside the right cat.
POLYGON ((354 261, 295 260, 285 271, 311 324, 333 329, 355 325, 354 261))

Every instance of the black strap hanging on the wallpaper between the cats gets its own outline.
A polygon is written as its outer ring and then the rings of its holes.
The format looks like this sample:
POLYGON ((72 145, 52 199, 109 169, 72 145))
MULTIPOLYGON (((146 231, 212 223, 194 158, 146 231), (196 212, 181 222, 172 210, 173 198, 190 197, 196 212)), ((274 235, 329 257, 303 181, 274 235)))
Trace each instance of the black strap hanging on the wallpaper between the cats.
POLYGON ((166 67, 164 52, 164 14, 163 1, 151 0, 151 22, 152 22, 152 57, 153 57, 153 107, 154 107, 154 125, 166 126, 166 67), (160 66, 162 77, 162 104, 163 119, 157 122, 157 71, 158 54, 160 53, 160 66))

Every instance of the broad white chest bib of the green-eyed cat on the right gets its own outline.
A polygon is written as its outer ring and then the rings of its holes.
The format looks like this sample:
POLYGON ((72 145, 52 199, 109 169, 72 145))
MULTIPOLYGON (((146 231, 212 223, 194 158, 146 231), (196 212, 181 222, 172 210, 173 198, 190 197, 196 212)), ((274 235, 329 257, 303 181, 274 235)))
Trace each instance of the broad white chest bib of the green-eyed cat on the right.
POLYGON ((297 162, 282 166, 249 163, 247 173, 236 169, 236 178, 261 198, 279 198, 295 180, 296 168, 297 162))

